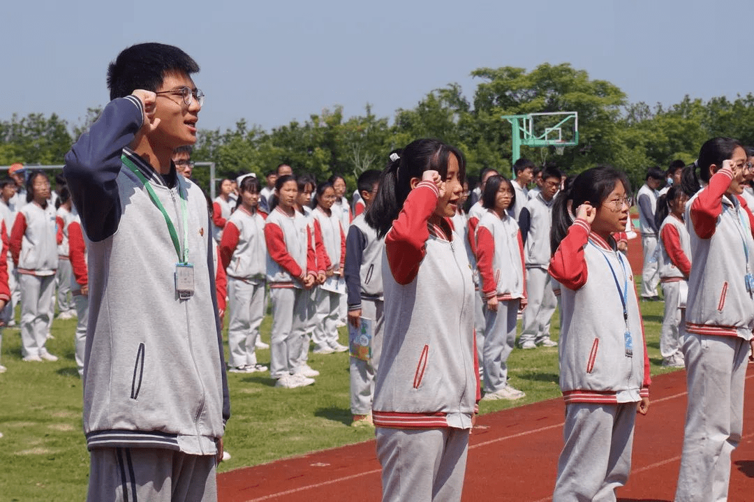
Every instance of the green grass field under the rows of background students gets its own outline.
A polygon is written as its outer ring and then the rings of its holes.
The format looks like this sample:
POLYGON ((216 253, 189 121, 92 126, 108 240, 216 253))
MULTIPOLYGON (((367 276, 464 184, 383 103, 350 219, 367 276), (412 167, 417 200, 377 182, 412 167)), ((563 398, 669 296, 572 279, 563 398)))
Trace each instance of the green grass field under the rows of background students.
MULTIPOLYGON (((660 366, 661 302, 642 303, 652 374, 660 366)), ((262 324, 269 341, 270 317, 262 324)), ((553 318, 553 339, 557 339, 553 318)), ((0 363, 0 501, 55 500, 79 502, 86 497, 89 455, 81 431, 81 380, 73 358, 75 320, 58 321, 48 348, 56 363, 23 363, 18 329, 5 329, 0 363)), ((341 342, 346 341, 345 329, 341 342)), ((227 353, 227 347, 226 347, 227 353)), ((258 352, 268 363, 269 351, 258 352)), ((373 430, 350 427, 348 355, 311 354, 310 366, 321 372, 317 383, 278 389, 268 373, 228 374, 233 416, 225 433, 232 458, 219 472, 262 464, 308 451, 332 448, 374 437, 373 430)), ((483 401, 482 413, 495 412, 559 396, 557 347, 513 350, 508 360, 511 384, 526 398, 515 403, 483 401)))

